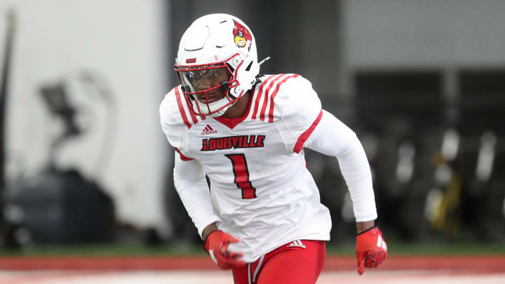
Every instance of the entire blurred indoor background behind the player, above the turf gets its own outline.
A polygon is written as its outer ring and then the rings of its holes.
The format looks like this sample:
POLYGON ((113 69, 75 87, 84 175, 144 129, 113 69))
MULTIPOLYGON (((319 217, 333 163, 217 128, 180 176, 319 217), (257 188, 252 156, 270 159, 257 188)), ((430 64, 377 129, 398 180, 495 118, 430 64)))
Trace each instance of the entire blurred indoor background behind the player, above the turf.
MULTIPOLYGON (((263 74, 301 74, 355 130, 388 240, 503 247, 505 1, 0 0, 2 251, 200 248, 158 107, 208 13, 241 18, 263 74)), ((306 155, 330 245, 352 243, 337 160, 306 155)))

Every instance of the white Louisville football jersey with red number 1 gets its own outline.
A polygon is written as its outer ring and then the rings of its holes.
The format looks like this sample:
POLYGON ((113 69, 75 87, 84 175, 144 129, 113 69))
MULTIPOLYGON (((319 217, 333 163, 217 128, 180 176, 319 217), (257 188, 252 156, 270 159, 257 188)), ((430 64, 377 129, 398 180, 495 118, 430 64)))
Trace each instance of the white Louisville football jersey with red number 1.
POLYGON ((293 240, 330 239, 330 212, 304 158, 304 142, 323 114, 307 79, 263 76, 237 119, 195 116, 180 86, 160 109, 170 144, 208 175, 218 227, 241 239, 229 248, 245 262, 293 240))

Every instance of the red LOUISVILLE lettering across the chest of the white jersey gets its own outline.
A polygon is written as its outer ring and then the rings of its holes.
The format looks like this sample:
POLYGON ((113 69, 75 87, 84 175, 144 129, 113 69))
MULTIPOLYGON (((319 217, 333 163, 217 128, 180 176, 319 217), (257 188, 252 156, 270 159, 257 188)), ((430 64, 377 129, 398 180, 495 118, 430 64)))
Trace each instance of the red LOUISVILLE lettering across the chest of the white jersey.
POLYGON ((241 135, 207 138, 202 140, 200 151, 264 147, 265 135, 241 135))

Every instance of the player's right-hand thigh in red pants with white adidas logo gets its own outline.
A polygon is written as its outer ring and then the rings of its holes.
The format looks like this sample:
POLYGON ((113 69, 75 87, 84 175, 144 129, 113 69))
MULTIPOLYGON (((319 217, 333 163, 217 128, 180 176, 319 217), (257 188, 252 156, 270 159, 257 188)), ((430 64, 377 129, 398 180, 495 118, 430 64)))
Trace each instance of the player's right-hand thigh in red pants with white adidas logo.
POLYGON ((289 248, 272 256, 260 272, 257 284, 314 284, 325 258, 324 241, 302 241, 307 248, 289 248))

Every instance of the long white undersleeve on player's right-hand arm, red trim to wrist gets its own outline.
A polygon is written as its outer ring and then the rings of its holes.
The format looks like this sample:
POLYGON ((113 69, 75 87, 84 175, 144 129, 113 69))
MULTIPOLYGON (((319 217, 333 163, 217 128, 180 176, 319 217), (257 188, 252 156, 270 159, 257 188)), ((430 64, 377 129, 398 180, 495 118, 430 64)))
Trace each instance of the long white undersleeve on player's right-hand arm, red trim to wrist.
POLYGON ((356 222, 377 219, 370 165, 354 131, 323 110, 321 121, 305 142, 305 147, 337 157, 351 194, 356 222))

